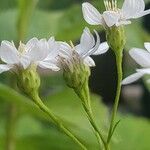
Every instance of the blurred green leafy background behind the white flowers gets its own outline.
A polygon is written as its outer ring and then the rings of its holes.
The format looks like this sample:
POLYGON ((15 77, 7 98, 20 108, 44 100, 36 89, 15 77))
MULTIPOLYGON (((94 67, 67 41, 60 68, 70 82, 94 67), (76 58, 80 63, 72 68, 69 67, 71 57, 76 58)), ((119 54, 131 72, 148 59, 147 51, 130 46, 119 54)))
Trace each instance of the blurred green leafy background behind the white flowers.
MULTIPOLYGON (((0 0, 0 41, 23 42, 32 37, 49 38, 74 43, 79 41, 85 26, 97 29, 101 41, 105 33, 100 27, 89 26, 82 17, 84 0, 0 0)), ((101 12, 103 1, 89 1, 101 12)), ((147 8, 150 1, 145 0, 147 8)), ((119 6, 122 1, 119 0, 119 6)), ((135 62, 129 57, 132 47, 143 48, 150 41, 150 16, 133 21, 126 26, 127 44, 124 51, 124 76, 134 72, 135 62)), ((90 87, 92 106, 97 123, 106 135, 110 108, 115 96, 116 68, 113 53, 109 51, 94 57, 97 66, 92 69, 90 87), (94 94, 95 93, 95 94, 94 94)), ((97 150, 93 135, 80 100, 68 89, 62 73, 40 71, 42 77, 41 96, 66 125, 87 145, 97 150)), ((146 77, 147 78, 147 77, 146 77)), ((0 75, 0 150, 79 150, 67 136, 49 123, 25 96, 16 92, 15 78, 10 73, 0 75)), ((150 149, 150 85, 145 79, 123 87, 118 119, 121 123, 112 139, 112 150, 150 149)))

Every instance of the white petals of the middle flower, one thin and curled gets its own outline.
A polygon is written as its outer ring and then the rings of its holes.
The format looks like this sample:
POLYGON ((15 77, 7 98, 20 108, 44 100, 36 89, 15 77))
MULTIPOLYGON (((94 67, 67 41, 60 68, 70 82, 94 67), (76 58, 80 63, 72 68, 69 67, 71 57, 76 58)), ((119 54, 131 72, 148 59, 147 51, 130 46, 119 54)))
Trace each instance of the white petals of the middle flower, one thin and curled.
POLYGON ((65 42, 61 42, 60 46, 60 57, 63 58, 68 65, 72 65, 74 60, 83 61, 84 64, 92 67, 95 66, 94 60, 90 55, 100 55, 109 49, 107 42, 100 44, 100 38, 98 33, 95 31, 97 41, 94 36, 90 33, 90 30, 86 27, 81 35, 80 44, 75 47, 65 42))

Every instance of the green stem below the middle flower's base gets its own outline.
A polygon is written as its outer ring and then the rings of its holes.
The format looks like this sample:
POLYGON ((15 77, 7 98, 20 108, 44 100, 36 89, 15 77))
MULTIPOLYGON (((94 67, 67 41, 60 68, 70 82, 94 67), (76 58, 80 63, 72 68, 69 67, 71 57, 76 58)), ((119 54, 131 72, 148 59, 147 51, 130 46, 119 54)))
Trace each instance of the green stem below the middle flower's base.
MULTIPOLYGON (((93 117, 93 113, 92 113, 92 109, 91 109, 91 100, 90 100, 90 94, 89 94, 88 81, 85 82, 85 85, 81 89, 78 89, 75 92, 81 99, 82 106, 86 112, 87 118, 88 118, 91 126, 94 129, 94 134, 97 137, 100 147, 101 147, 101 141, 102 141, 104 147, 106 147, 106 142, 104 140, 104 137, 103 137, 102 133, 100 132, 100 130, 98 129, 95 119, 93 117)), ((107 150, 107 149, 105 148, 105 150, 107 150)))

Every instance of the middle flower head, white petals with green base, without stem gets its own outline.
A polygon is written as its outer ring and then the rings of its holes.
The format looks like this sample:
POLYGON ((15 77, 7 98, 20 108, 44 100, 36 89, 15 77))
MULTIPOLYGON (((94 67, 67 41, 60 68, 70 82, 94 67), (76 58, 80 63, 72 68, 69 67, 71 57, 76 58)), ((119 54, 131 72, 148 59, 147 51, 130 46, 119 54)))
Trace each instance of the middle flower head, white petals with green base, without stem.
POLYGON ((95 66, 94 60, 90 55, 103 54, 108 50, 106 42, 100 44, 98 33, 95 31, 97 41, 85 28, 80 39, 80 44, 71 46, 65 42, 61 42, 60 46, 60 65, 64 70, 64 79, 69 87, 81 88, 88 80, 90 75, 89 67, 95 66))

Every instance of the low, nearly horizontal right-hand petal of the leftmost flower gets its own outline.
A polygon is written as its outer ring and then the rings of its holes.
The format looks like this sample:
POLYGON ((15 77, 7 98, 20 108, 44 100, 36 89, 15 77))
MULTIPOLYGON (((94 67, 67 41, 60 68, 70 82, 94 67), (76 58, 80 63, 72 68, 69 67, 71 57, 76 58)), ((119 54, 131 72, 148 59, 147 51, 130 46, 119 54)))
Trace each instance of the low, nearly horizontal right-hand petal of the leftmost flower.
POLYGON ((53 71, 59 71, 60 70, 60 68, 57 67, 55 64, 49 63, 49 62, 44 62, 44 61, 39 62, 38 66, 43 68, 43 69, 51 69, 53 71))

